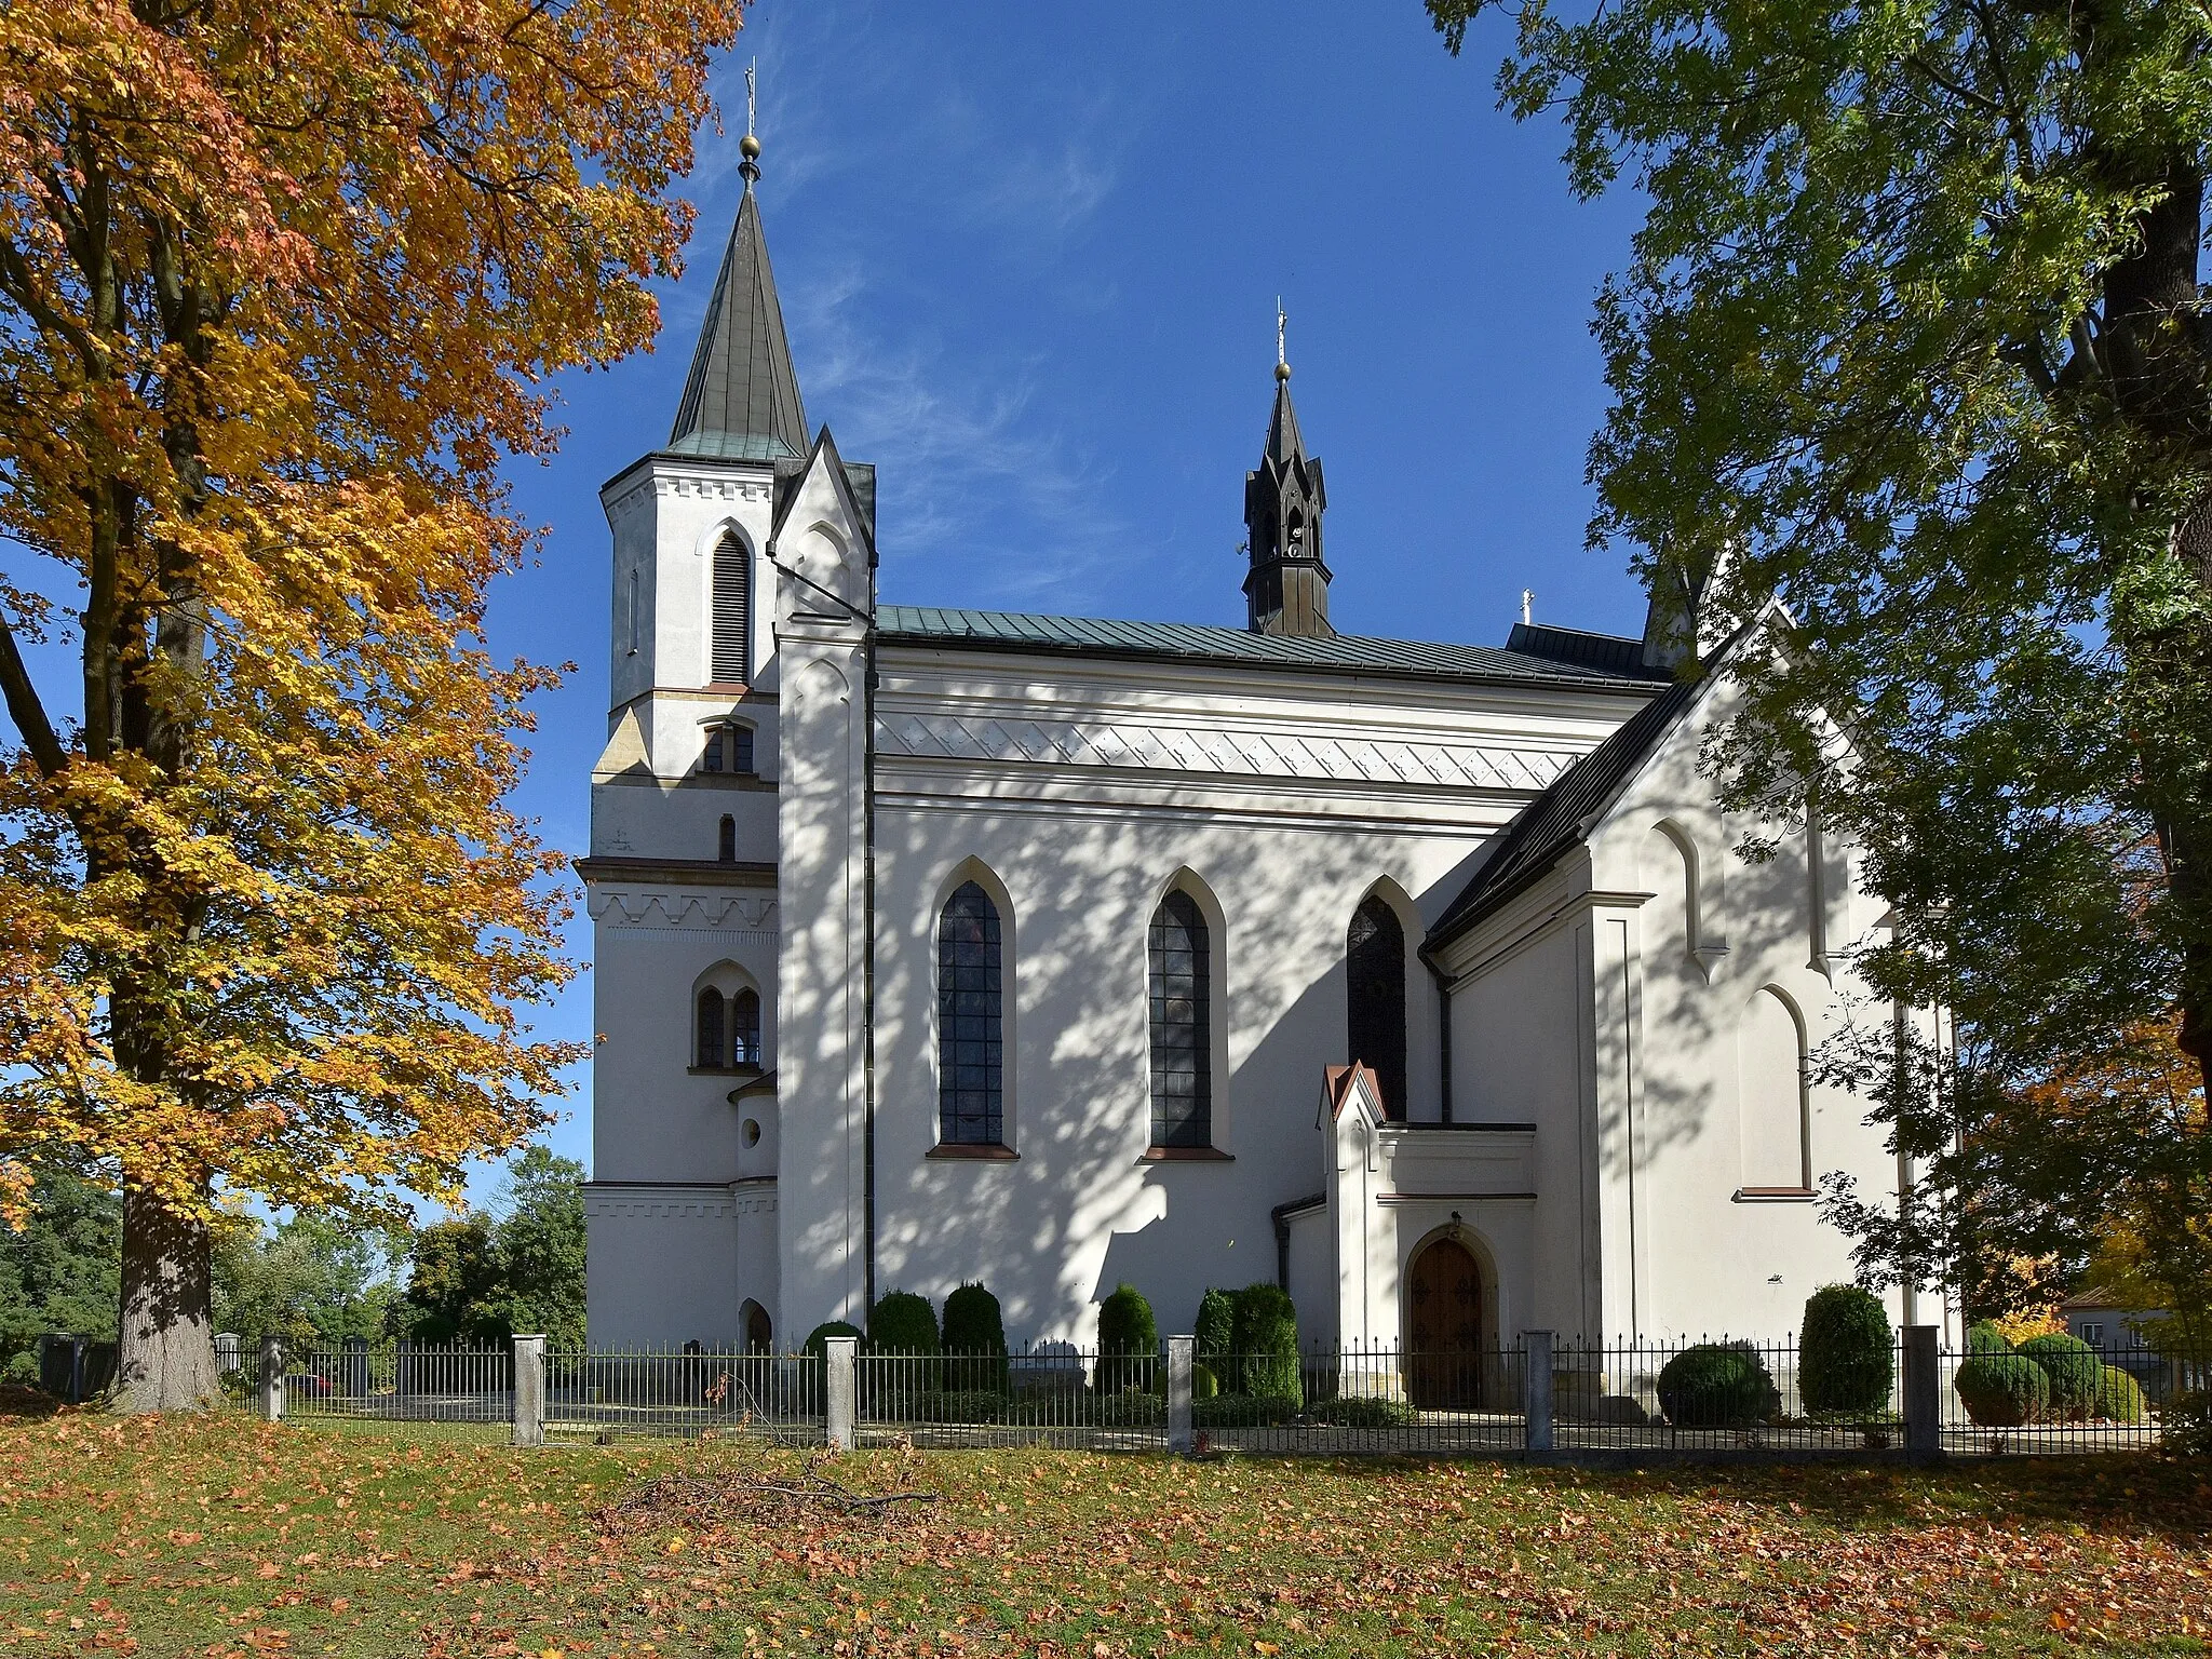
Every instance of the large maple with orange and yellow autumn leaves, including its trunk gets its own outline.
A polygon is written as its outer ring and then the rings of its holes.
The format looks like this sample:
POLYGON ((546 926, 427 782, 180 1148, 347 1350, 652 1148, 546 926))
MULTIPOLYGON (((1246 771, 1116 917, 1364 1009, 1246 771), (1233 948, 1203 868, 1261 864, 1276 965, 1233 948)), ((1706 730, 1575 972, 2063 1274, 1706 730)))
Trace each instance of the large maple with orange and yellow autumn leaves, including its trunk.
POLYGON ((650 341, 741 9, 0 7, 0 1161, 122 1181, 126 1407, 215 1389, 221 1197, 447 1194, 542 1121, 498 467, 650 341))

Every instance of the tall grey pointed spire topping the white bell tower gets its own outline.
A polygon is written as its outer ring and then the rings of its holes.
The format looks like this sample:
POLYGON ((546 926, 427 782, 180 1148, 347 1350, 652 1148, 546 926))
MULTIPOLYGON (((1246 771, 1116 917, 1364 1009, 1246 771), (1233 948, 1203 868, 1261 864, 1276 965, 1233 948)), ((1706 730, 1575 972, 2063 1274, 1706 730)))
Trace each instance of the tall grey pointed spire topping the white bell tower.
POLYGON ((807 409, 799 398, 783 305, 776 303, 768 239, 761 234, 761 206, 752 192, 761 177, 761 139, 752 133, 750 69, 739 153, 745 157, 737 168, 745 175, 745 195, 737 204, 668 447, 684 456, 787 460, 807 453, 807 409))

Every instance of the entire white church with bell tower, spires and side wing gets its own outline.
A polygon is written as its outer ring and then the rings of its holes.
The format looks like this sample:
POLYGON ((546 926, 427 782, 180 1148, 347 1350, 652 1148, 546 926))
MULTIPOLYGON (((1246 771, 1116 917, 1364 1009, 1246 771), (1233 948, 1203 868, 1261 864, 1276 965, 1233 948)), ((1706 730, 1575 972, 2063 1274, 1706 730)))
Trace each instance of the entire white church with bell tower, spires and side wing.
POLYGON ((1849 1276, 1818 1177, 1900 1170, 1807 1066, 1887 1020, 1880 907, 1816 834, 1734 856, 1770 827, 1697 770, 1747 641, 1336 635, 1287 369, 1250 628, 880 604, 754 155, 675 431, 602 491, 593 1340, 964 1281, 1015 1340, 1261 1279, 1307 1340, 1794 1329, 1849 1276))

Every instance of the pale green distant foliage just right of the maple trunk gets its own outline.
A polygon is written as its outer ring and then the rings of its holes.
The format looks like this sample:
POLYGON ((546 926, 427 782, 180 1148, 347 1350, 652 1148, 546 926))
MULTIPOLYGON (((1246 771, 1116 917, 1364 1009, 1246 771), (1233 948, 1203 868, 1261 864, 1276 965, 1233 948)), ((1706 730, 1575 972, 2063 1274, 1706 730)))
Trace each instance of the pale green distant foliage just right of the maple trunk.
POLYGON ((248 1345, 281 1336, 292 1347, 385 1336, 398 1298, 394 1239, 327 1214, 296 1214, 276 1228, 234 1217, 212 1243, 217 1329, 248 1345))

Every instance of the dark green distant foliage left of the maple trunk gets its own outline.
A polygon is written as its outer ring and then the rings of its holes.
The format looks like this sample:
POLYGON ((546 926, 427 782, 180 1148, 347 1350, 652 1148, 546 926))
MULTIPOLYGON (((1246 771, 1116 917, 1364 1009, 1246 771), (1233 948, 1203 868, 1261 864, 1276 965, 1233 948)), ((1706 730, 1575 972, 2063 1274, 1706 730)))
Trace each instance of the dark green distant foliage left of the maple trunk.
POLYGON ((115 1340, 122 1194, 40 1164, 22 1230, 0 1225, 0 1376, 31 1380, 46 1332, 115 1340))

